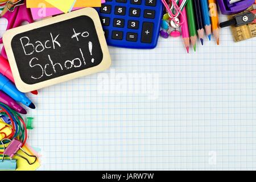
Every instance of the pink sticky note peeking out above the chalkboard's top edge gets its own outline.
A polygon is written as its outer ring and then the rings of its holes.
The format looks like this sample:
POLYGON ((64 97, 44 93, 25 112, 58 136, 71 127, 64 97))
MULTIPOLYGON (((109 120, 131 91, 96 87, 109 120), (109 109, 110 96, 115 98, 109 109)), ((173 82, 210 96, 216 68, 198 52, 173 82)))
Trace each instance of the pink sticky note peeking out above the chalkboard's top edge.
MULTIPOLYGON (((102 3, 105 3, 105 0, 101 1, 102 3)), ((73 10, 78 10, 81 9, 79 7, 73 8, 73 10)), ((31 8, 31 13, 33 16, 33 19, 41 19, 41 18, 46 18, 48 16, 53 16, 53 15, 58 15, 58 14, 62 14, 63 12, 60 11, 57 8, 31 8)))

